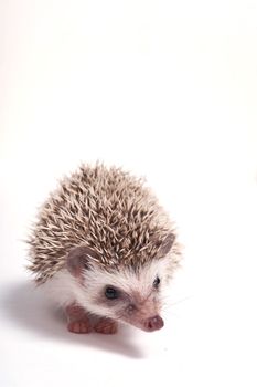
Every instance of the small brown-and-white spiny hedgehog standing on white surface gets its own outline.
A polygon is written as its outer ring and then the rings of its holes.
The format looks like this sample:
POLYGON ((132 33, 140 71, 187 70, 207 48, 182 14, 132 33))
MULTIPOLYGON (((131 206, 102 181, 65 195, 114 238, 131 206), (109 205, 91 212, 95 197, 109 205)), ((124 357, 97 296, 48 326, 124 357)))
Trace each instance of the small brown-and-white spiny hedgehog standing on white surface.
POLYGON ((141 177, 81 165, 41 206, 29 270, 64 310, 73 333, 114 334, 119 323, 163 327, 163 290, 180 263, 174 223, 141 177))

